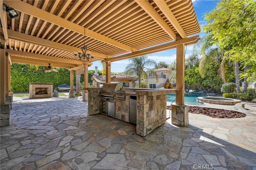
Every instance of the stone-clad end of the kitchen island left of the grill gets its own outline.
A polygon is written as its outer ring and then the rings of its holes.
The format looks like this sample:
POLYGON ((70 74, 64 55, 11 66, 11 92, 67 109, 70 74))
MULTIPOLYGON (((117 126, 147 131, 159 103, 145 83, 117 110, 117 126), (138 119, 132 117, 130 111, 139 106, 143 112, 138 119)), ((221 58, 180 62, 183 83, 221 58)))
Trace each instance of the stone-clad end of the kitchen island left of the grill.
POLYGON ((88 90, 88 115, 95 115, 100 113, 100 90, 102 88, 84 88, 88 90))

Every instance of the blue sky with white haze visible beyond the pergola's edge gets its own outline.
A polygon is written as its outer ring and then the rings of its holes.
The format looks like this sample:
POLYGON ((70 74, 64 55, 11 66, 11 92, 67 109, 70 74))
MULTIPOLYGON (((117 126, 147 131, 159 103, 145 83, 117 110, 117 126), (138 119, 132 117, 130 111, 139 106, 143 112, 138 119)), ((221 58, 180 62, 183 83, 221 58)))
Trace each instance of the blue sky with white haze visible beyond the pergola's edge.
MULTIPOLYGON (((192 0, 194 9, 196 11, 196 16, 198 18, 198 22, 201 27, 203 24, 205 24, 204 14, 213 10, 216 7, 217 2, 218 2, 217 0, 192 0)), ((199 36, 202 38, 204 36, 204 33, 201 32, 199 36)), ((186 48, 185 56, 190 55, 192 53, 193 45, 188 45, 185 48, 186 48)), ((147 56, 149 59, 153 59, 157 63, 160 61, 164 61, 168 64, 171 64, 176 59, 176 49, 170 49, 166 51, 152 53, 152 54, 148 54, 147 56)), ((123 72, 128 63, 129 63, 129 59, 112 62, 111 72, 115 72, 115 73, 123 72)), ((88 69, 94 70, 95 66, 98 67, 98 70, 102 70, 100 61, 93 62, 93 65, 88 69)))

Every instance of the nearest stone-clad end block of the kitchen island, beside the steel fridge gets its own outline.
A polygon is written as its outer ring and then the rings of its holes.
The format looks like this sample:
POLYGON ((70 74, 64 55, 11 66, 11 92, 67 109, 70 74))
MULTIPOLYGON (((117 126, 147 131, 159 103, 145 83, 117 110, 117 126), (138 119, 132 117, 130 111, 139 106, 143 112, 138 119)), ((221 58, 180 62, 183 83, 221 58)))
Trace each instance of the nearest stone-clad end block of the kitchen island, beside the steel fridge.
POLYGON ((136 133, 146 136, 166 121, 166 93, 163 90, 139 90, 137 95, 136 133))

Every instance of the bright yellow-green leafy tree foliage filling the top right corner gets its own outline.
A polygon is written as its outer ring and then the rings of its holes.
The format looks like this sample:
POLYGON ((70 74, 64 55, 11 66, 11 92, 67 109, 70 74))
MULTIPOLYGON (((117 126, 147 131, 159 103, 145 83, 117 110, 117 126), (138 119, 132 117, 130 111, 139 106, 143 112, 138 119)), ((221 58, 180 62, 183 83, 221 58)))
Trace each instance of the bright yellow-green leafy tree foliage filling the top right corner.
POLYGON ((226 59, 242 68, 250 66, 240 73, 247 80, 256 79, 255 15, 255 0, 222 0, 205 15, 207 24, 203 27, 212 34, 213 45, 218 45, 226 59))

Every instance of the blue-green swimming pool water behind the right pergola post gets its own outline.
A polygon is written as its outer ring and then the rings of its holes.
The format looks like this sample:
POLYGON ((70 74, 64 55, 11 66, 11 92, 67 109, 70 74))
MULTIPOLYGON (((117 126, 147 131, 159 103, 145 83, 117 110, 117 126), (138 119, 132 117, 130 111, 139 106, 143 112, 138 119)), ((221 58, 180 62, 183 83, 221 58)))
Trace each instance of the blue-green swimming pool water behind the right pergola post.
MULTIPOLYGON (((194 95, 194 94, 185 94, 184 103, 185 105, 203 105, 203 102, 197 102, 197 97, 204 97, 206 95, 194 95)), ((174 101, 176 98, 176 93, 168 93, 167 94, 167 101, 171 102, 174 101)), ((175 101, 173 102, 175 103, 175 101)))

